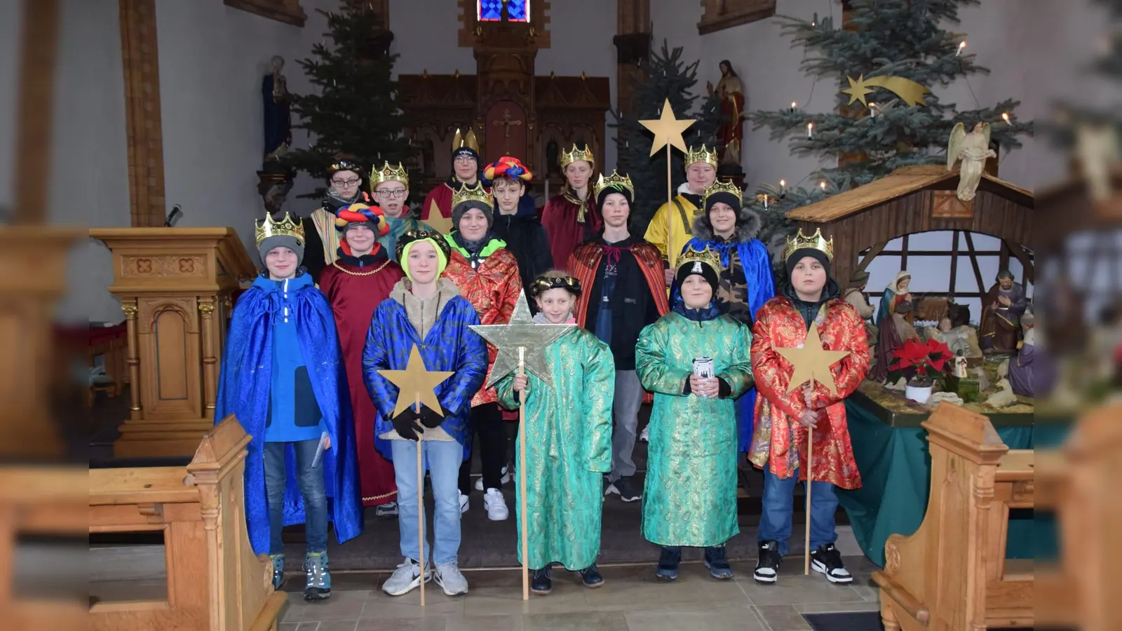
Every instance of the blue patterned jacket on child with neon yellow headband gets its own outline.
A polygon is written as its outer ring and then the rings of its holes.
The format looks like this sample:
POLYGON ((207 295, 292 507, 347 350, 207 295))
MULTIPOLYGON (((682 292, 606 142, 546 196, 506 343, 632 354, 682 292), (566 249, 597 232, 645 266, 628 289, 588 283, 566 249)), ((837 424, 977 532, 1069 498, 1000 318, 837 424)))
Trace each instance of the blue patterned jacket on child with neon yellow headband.
MULTIPOLYGON (((431 330, 421 339, 410 322, 405 305, 388 298, 374 310, 366 348, 362 350, 362 378, 378 409, 375 436, 394 429, 390 414, 397 405, 398 387, 378 371, 404 371, 410 351, 416 345, 429 371, 456 373, 436 386, 436 397, 449 412, 441 428, 463 446, 463 456, 471 449, 471 396, 487 376, 487 345, 468 327, 479 323, 479 314, 467 299, 456 295, 436 316, 431 330)), ((388 460, 393 454, 388 440, 375 439, 375 447, 388 460)))

